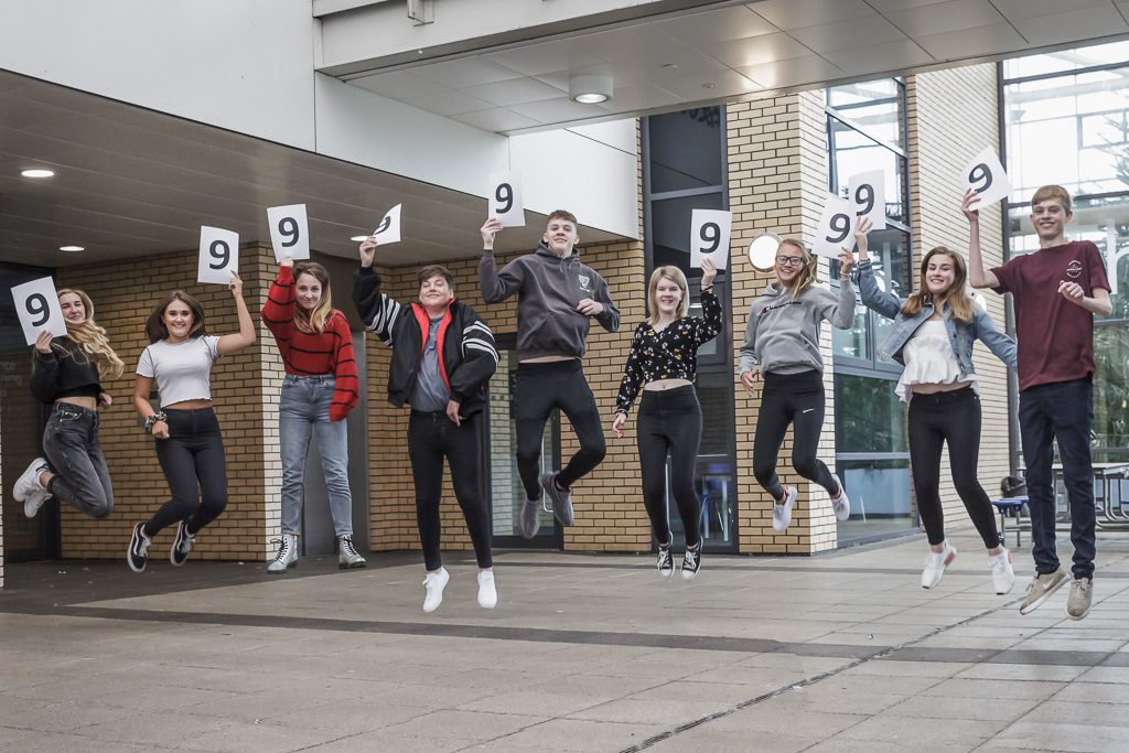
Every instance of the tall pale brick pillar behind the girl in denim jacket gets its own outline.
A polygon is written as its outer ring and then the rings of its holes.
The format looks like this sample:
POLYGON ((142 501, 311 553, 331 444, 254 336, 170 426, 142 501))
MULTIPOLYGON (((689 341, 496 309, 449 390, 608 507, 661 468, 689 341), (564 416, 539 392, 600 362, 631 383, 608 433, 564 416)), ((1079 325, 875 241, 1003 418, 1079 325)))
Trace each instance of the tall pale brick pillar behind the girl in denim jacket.
MULTIPOLYGON (((907 98, 914 266, 919 268, 920 260, 936 246, 946 246, 968 257, 969 224, 961 212, 961 170, 984 147, 992 147, 998 154, 996 65, 966 65, 911 76, 907 81, 907 98)), ((980 234, 984 264, 1003 263, 999 203, 981 209, 980 234)), ((916 280, 917 269, 913 274, 916 280)), ((1003 296, 990 290, 979 295, 997 326, 1004 330, 1003 296)), ((1009 466, 1007 369, 983 344, 975 347, 973 360, 983 409, 980 483, 995 498, 1009 466)), ((969 526, 964 506, 953 490, 948 454, 942 458, 945 522, 948 528, 969 526)))

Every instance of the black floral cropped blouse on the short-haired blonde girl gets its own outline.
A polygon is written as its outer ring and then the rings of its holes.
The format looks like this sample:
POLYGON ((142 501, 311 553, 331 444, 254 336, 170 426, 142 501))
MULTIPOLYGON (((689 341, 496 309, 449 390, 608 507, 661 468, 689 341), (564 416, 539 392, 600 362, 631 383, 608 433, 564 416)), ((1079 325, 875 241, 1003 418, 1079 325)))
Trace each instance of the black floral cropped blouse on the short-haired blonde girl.
POLYGON ((702 290, 702 317, 683 316, 656 331, 646 322, 636 327, 631 351, 620 382, 615 410, 627 413, 648 382, 694 380, 698 349, 721 332, 721 301, 712 290, 702 290))

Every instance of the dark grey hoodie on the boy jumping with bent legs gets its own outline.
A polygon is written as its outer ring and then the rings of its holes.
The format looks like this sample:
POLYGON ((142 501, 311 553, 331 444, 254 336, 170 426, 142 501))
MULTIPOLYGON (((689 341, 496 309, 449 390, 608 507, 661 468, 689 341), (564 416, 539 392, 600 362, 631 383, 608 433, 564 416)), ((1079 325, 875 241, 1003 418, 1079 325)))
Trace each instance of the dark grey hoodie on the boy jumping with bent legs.
POLYGON ((492 251, 482 252, 479 262, 482 298, 497 304, 517 294, 517 358, 574 356, 586 350, 588 317, 576 310, 585 298, 604 305, 594 317, 609 332, 620 329, 620 312, 607 295, 607 283, 580 254, 561 259, 544 243, 532 254, 518 256, 501 272, 492 251))

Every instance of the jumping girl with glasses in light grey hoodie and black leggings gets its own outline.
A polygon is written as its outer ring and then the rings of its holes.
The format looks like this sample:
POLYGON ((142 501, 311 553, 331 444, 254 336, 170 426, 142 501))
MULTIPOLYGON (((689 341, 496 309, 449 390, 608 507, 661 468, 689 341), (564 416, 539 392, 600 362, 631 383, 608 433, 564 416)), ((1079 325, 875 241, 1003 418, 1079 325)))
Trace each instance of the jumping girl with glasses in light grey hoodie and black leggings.
POLYGON ((737 368, 749 394, 763 371, 764 389, 753 440, 753 475, 768 491, 772 527, 787 531, 798 493, 785 487, 776 465, 788 424, 795 428, 791 464, 796 471, 823 487, 831 497, 835 518, 850 517, 850 500, 839 476, 815 456, 823 428, 823 359, 820 327, 828 319, 840 330, 855 317, 855 289, 850 283, 854 257, 839 256, 839 294, 815 287, 819 259, 798 240, 782 240, 777 248, 777 279, 753 301, 745 327, 737 368))

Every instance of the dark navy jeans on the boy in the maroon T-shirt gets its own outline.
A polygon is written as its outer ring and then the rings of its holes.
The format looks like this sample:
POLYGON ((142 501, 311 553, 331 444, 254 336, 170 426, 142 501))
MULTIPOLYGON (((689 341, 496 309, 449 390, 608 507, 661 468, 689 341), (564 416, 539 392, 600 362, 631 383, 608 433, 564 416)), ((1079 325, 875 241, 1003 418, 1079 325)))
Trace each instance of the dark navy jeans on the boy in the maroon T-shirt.
POLYGON ((1070 500, 1070 542, 1074 577, 1092 578, 1096 553, 1094 466, 1089 432, 1094 423, 1094 385, 1089 378, 1029 387, 1019 393, 1019 434, 1027 465, 1027 508, 1031 510, 1031 553, 1039 575, 1059 568, 1054 551, 1054 488, 1051 464, 1057 439, 1062 476, 1070 500))

